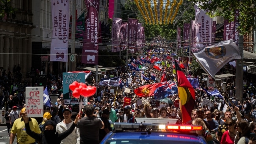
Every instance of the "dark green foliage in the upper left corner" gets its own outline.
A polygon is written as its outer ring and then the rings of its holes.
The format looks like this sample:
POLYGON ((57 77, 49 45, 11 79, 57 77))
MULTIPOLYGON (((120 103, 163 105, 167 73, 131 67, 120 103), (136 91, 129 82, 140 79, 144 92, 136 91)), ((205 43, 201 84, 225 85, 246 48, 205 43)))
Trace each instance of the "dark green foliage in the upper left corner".
POLYGON ((14 14, 15 9, 10 6, 10 0, 0 0, 0 18, 9 18, 11 14, 14 14))

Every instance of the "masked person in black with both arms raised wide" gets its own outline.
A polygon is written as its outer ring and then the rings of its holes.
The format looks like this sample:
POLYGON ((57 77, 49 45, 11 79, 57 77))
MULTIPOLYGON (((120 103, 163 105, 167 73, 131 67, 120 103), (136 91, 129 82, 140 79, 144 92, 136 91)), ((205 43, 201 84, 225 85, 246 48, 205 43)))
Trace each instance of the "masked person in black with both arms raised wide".
MULTIPOLYGON (((35 133, 33 131, 34 128, 29 123, 31 118, 28 117, 26 111, 22 113, 22 118, 24 119, 26 133, 30 137, 37 139, 40 144, 61 144, 61 140, 63 140, 64 138, 69 136, 70 133, 72 133, 72 131, 76 127, 76 124, 78 123, 78 120, 81 117, 78 114, 76 116, 75 121, 72 122, 71 127, 63 133, 56 132, 56 124, 52 120, 48 120, 47 122, 45 122, 42 133, 35 133)), ((33 142, 30 142, 30 143, 33 143, 33 142)))

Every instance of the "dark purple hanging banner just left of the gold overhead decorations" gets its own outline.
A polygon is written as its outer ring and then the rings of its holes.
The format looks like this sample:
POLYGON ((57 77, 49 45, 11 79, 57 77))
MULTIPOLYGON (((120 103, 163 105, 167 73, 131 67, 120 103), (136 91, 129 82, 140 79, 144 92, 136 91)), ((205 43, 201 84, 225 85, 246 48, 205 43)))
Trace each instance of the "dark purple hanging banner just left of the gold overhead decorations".
POLYGON ((136 46, 137 42, 137 31, 138 31, 138 22, 137 19, 129 18, 128 24, 128 46, 134 47, 136 46))

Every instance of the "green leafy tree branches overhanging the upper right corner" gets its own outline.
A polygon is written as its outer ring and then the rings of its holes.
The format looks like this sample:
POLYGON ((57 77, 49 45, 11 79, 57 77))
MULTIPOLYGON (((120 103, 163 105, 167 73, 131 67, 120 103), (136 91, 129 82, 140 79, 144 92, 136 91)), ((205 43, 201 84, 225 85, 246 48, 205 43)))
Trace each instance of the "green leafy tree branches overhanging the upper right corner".
POLYGON ((239 33, 242 35, 255 30, 256 0, 191 0, 200 3, 202 9, 209 9, 210 17, 222 16, 230 22, 234 21, 235 12, 239 10, 239 33), (252 28, 252 29, 251 29, 252 28))

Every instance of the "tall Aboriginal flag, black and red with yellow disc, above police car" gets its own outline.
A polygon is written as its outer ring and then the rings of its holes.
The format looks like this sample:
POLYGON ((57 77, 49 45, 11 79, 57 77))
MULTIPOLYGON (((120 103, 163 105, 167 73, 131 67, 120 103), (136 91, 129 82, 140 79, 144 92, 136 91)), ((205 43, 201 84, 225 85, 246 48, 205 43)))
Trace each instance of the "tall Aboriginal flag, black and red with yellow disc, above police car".
POLYGON ((182 122, 186 124, 186 122, 191 120, 192 110, 197 108, 195 104, 195 90, 187 80, 185 74, 180 69, 178 63, 176 61, 174 61, 174 63, 177 78, 176 84, 178 86, 178 94, 180 97, 182 122))

